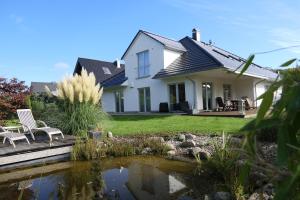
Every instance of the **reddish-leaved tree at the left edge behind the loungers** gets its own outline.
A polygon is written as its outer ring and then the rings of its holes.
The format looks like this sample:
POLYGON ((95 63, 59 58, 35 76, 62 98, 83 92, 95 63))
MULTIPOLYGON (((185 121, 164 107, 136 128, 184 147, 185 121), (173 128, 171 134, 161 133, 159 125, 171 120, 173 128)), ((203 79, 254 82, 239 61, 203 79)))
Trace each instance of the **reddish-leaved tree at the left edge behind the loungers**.
POLYGON ((17 109, 26 107, 28 95, 29 87, 24 81, 0 77, 0 120, 11 118, 17 109))

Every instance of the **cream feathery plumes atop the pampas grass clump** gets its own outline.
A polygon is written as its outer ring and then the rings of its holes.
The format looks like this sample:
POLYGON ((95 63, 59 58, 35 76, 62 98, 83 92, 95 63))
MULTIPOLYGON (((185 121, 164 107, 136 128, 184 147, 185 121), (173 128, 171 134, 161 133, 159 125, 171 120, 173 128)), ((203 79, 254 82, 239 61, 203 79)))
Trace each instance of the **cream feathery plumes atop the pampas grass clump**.
POLYGON ((57 85, 59 98, 73 103, 98 104, 103 94, 103 87, 96 84, 96 77, 93 72, 88 73, 82 69, 81 75, 75 74, 64 78, 57 85))

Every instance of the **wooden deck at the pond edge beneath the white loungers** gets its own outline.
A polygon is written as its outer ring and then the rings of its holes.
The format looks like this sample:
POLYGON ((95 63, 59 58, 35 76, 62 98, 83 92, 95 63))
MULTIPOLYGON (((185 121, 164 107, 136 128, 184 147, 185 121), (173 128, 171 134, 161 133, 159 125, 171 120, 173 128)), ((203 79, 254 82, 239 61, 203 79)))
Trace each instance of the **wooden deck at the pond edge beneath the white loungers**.
POLYGON ((0 168, 20 162, 70 154, 75 143, 75 137, 70 135, 65 135, 64 139, 60 136, 54 137, 51 145, 46 135, 37 136, 35 141, 30 137, 28 138, 30 139, 30 145, 26 141, 16 141, 16 148, 8 141, 5 144, 1 141, 0 168))

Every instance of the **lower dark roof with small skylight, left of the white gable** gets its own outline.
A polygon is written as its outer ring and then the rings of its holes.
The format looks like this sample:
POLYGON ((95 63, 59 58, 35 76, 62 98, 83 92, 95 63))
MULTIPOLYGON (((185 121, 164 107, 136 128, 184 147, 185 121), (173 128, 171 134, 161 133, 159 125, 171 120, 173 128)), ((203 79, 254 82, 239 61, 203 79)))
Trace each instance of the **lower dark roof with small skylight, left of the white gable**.
MULTIPOLYGON (((116 62, 107 62, 107 61, 93 60, 88 58, 78 58, 75 66, 74 74, 75 73, 80 74, 82 68, 85 68, 88 71, 88 73, 93 72, 95 74, 97 83, 100 83, 101 85, 103 85, 104 82, 107 80, 113 80, 115 76, 119 77, 118 83, 122 84, 125 81, 124 80, 121 83, 121 79, 120 79, 120 74, 123 74, 124 75, 123 79, 125 79, 124 64, 121 64, 120 68, 118 68, 116 62), (105 73, 104 68, 107 68, 110 74, 105 73)), ((114 84, 116 83, 114 82, 114 84)), ((109 85, 110 85, 109 83, 106 83, 106 86, 104 87, 108 87, 109 85)))

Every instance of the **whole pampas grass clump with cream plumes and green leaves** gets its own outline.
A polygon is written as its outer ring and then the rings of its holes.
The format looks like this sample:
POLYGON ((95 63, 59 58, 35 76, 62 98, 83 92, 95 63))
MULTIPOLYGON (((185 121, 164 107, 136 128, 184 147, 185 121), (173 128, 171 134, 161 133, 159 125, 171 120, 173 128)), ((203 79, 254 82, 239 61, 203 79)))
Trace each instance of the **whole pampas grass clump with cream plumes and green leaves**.
POLYGON ((65 78, 57 85, 58 98, 63 101, 62 111, 65 112, 63 130, 66 133, 86 136, 90 127, 102 125, 106 114, 100 106, 103 88, 96 84, 93 73, 82 69, 81 75, 65 78), (100 123, 102 122, 102 123, 100 123))

